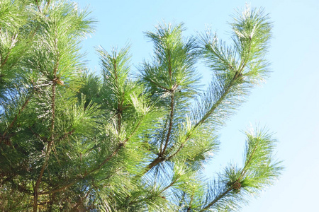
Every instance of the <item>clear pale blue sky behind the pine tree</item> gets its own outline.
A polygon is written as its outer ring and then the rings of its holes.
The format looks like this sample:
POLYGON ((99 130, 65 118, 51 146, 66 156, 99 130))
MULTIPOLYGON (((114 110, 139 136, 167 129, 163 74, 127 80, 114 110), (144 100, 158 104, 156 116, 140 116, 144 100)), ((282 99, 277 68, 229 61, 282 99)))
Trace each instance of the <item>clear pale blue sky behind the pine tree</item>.
MULTIPOLYGON (((96 18, 96 33, 84 41, 91 69, 99 71, 94 47, 132 44, 133 70, 152 53, 152 44, 142 32, 154 30, 162 20, 184 22, 184 35, 212 28, 230 42, 231 14, 245 7, 245 1, 78 1, 89 5, 96 18)), ((230 118, 220 131, 220 151, 206 167, 213 176, 230 161, 242 164, 245 136, 240 132, 250 124, 267 126, 279 140, 276 157, 286 167, 281 179, 259 199, 251 199, 245 212, 318 211, 319 197, 319 1, 268 0, 247 1, 252 7, 264 7, 274 22, 269 49, 272 74, 252 90, 248 102, 230 118)), ((208 69, 199 66, 203 78, 208 69)), ((203 83, 207 81, 204 80, 203 83)))

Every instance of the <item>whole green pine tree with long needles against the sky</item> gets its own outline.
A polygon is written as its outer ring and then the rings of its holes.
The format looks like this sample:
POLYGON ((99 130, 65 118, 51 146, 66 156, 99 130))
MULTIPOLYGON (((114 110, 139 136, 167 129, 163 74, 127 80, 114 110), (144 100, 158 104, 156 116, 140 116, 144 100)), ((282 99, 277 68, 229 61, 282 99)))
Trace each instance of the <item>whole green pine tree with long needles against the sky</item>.
POLYGON ((97 49, 86 69, 87 10, 69 1, 0 2, 1 211, 238 211, 281 172, 276 139, 245 132, 245 163, 206 179, 218 129, 267 77, 272 24, 238 12, 233 44, 184 24, 145 33, 150 61, 133 74, 130 46, 97 49), (212 80, 199 84, 196 63, 212 80))

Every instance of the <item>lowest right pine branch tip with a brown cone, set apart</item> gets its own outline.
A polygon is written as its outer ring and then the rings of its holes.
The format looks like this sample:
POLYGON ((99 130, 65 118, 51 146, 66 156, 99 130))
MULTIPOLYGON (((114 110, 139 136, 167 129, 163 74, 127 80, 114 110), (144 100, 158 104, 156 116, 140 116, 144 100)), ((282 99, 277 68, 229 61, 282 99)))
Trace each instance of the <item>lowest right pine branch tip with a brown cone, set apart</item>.
MULTIPOLYGON (((224 177, 220 179, 223 184, 224 192, 216 196, 210 204, 201 211, 213 207, 221 199, 225 199, 220 207, 225 207, 230 198, 244 200, 245 194, 254 194, 259 192, 262 187, 272 184, 272 181, 279 176, 280 163, 274 163, 272 151, 274 148, 274 139, 262 131, 247 133, 247 147, 245 165, 242 169, 228 168, 224 177), (245 190, 245 192, 241 192, 245 190), (233 192, 231 196, 228 193, 233 192), (247 193, 246 193, 247 192, 247 193)), ((235 204, 233 203, 233 206, 235 204)))

